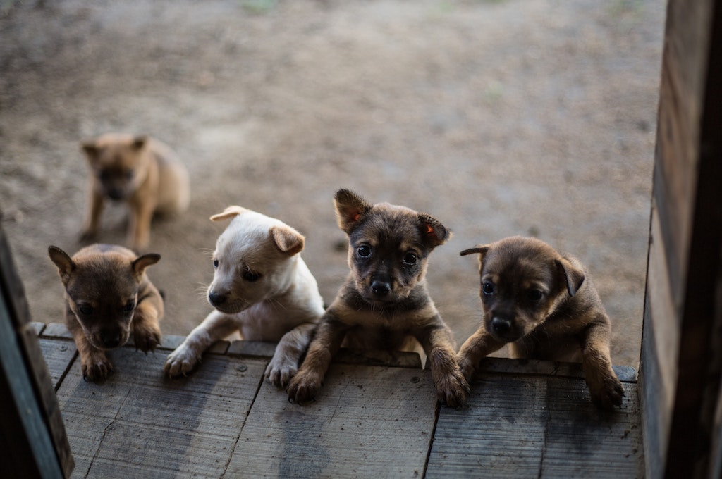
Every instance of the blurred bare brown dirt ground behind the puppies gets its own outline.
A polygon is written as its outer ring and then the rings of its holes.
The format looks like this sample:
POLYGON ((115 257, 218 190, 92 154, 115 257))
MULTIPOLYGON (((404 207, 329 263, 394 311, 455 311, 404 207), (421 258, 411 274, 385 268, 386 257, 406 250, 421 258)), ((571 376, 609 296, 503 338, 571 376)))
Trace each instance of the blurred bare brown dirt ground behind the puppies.
MULTIPOLYGON (((58 0, 0 3, 0 210, 34 320, 62 320, 48 245, 74 252, 79 141, 149 133, 191 172, 190 210, 154 223, 166 334, 209 312, 229 204, 307 237, 327 302, 346 275, 331 198, 427 211, 453 230, 430 291, 460 344, 475 258, 535 235, 588 266, 615 364, 638 365, 662 0, 58 0)), ((110 208, 100 240, 122 243, 110 208)))

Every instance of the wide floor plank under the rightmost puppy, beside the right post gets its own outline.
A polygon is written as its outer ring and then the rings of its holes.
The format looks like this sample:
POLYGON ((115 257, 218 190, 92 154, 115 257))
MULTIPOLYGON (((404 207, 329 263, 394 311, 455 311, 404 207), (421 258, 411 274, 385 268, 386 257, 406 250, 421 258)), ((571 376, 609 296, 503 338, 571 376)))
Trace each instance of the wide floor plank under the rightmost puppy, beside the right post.
POLYGON ((427 478, 643 476, 637 385, 603 413, 582 379, 483 374, 467 408, 442 408, 427 478))

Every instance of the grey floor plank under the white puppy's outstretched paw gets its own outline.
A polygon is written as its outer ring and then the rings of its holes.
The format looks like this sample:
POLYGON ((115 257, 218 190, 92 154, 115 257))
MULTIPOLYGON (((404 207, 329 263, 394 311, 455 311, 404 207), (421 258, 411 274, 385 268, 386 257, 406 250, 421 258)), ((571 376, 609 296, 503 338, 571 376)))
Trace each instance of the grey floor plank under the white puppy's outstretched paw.
POLYGON ((79 361, 58 389, 74 477, 220 477, 266 361, 206 355, 196 372, 162 376, 165 353, 110 354, 105 384, 84 382, 79 361))

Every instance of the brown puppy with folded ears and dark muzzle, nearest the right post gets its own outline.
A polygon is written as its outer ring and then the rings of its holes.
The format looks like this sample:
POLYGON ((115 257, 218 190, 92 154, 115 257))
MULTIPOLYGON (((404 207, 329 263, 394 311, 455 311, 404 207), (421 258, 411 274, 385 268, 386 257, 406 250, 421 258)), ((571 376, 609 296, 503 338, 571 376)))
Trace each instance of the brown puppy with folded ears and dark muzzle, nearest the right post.
POLYGON ((510 343, 516 358, 582 362, 599 408, 622 405, 625 393, 609 358, 611 323, 584 266, 535 238, 477 245, 482 326, 458 353, 471 381, 479 361, 510 343))

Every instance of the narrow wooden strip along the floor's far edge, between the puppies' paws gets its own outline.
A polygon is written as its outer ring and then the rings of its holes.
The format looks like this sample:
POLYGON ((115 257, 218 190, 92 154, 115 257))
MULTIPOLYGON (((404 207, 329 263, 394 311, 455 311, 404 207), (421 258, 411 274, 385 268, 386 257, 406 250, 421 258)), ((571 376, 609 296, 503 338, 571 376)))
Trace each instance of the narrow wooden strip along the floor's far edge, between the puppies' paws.
MULTIPOLYGON (((72 340, 72 336, 63 323, 42 322, 32 323, 32 328, 41 338, 72 340)), ((184 336, 165 335, 162 338, 158 349, 160 351, 173 351, 183 343, 184 336)), ((126 345, 134 347, 132 340, 126 345)), ((271 358, 276 345, 261 341, 221 340, 209 348, 206 353, 227 354, 229 356, 271 358)), ((388 366, 421 369, 421 359, 417 353, 399 351, 389 353, 388 351, 363 351, 349 348, 342 348, 334 358, 337 364, 365 364, 367 366, 388 366)), ((480 373, 486 374, 526 374, 544 375, 556 377, 583 378, 584 370, 581 364, 560 363, 554 361, 539 361, 536 359, 509 359, 509 358, 486 358, 479 366, 480 373)), ((638 381, 638 372, 632 366, 614 366, 614 372, 619 381, 638 381)))

